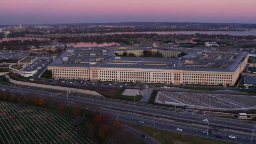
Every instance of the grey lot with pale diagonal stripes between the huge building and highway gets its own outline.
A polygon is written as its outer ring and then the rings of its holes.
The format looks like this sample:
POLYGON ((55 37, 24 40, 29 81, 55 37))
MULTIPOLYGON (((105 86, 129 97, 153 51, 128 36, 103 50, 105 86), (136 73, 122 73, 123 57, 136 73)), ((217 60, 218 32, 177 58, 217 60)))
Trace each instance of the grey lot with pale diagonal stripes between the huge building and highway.
POLYGON ((156 103, 168 102, 174 102, 177 106, 187 104, 211 108, 249 108, 256 106, 256 96, 159 91, 156 103))

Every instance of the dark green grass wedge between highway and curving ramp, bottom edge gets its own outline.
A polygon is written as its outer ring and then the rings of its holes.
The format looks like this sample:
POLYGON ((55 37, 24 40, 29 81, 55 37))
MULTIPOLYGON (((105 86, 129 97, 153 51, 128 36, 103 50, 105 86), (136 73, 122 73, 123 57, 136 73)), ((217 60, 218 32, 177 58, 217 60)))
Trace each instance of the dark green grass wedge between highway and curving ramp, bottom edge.
POLYGON ((199 136, 191 136, 187 134, 181 134, 178 132, 170 132, 167 130, 154 129, 151 127, 141 126, 137 124, 130 124, 126 122, 122 122, 122 124, 126 124, 137 130, 144 132, 146 135, 153 137, 155 135, 155 140, 160 142, 161 144, 234 144, 232 142, 224 142, 221 140, 214 139, 206 139, 199 136))

